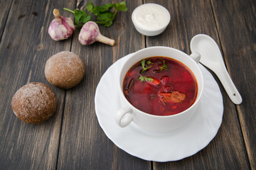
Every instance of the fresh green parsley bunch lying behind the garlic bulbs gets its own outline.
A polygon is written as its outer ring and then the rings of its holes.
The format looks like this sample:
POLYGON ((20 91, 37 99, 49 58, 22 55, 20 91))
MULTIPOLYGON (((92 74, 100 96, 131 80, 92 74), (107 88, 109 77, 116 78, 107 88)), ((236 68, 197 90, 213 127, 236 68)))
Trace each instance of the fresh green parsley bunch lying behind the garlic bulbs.
POLYGON ((103 26, 110 27, 113 23, 113 20, 117 14, 117 11, 127 11, 127 6, 124 1, 117 4, 105 4, 102 6, 94 6, 92 1, 86 5, 86 13, 83 10, 75 9, 72 11, 68 8, 63 8, 65 11, 69 11, 74 13, 75 17, 75 25, 82 26, 87 21, 90 21, 92 13, 97 16, 97 21, 95 23, 99 23, 103 26), (112 8, 114 8, 114 12, 112 12, 112 8))

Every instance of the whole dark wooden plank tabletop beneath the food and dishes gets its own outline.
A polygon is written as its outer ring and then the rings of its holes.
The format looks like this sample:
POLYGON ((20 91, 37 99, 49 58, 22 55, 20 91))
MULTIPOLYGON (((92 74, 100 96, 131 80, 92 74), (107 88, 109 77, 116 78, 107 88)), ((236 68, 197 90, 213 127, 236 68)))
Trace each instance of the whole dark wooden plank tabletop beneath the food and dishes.
MULTIPOLYGON (((92 1, 95 5, 112 1, 92 1)), ((117 1, 114 1, 117 2, 117 1)), ((112 47, 99 42, 82 46, 79 30, 72 38, 53 41, 47 33, 53 8, 63 16, 87 1, 0 2, 0 169, 255 169, 256 167, 256 1, 159 0, 126 1, 102 35, 113 38, 112 47), (132 11, 154 2, 171 13, 164 33, 146 37, 135 30, 132 11), (163 45, 191 53, 194 35, 210 35, 219 45, 226 67, 242 96, 235 105, 223 95, 223 122, 215 138, 197 154, 177 162, 149 162, 133 157, 108 139, 95 114, 95 90, 108 67, 144 47, 163 45), (85 62, 85 77, 70 90, 46 80, 44 67, 51 55, 68 50, 85 62), (11 110, 11 98, 28 82, 50 86, 57 99, 55 115, 40 125, 23 123, 11 110)))

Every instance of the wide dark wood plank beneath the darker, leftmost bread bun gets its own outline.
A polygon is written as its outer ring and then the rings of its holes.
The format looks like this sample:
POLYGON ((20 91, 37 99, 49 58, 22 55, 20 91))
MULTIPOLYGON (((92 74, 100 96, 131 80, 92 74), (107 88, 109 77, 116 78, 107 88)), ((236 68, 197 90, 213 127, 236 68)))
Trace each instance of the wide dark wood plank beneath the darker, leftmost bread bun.
POLYGON ((13 1, 0 45, 0 169, 55 169, 65 91, 48 84, 46 60, 70 50, 71 40, 56 43, 47 33, 54 7, 75 6, 69 1, 13 1), (58 5, 57 5, 58 4, 58 5), (48 84, 58 100, 55 115, 46 123, 28 125, 11 110, 11 98, 21 86, 48 84))

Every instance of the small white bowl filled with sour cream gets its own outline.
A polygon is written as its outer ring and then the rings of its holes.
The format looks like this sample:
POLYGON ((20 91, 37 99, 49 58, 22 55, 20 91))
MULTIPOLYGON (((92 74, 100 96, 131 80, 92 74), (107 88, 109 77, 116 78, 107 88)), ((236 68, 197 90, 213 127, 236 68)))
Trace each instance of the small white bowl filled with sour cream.
POLYGON ((161 34, 171 20, 169 11, 159 4, 143 4, 132 12, 132 22, 139 33, 146 36, 161 34))

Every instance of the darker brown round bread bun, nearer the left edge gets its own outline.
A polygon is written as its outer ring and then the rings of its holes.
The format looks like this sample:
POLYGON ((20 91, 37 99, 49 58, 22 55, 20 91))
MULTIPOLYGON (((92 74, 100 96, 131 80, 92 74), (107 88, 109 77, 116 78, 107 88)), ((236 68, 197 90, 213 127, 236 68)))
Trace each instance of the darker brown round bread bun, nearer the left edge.
POLYGON ((46 84, 33 82, 22 86, 11 100, 14 114, 26 123, 43 123, 56 110, 57 101, 52 89, 46 84))

